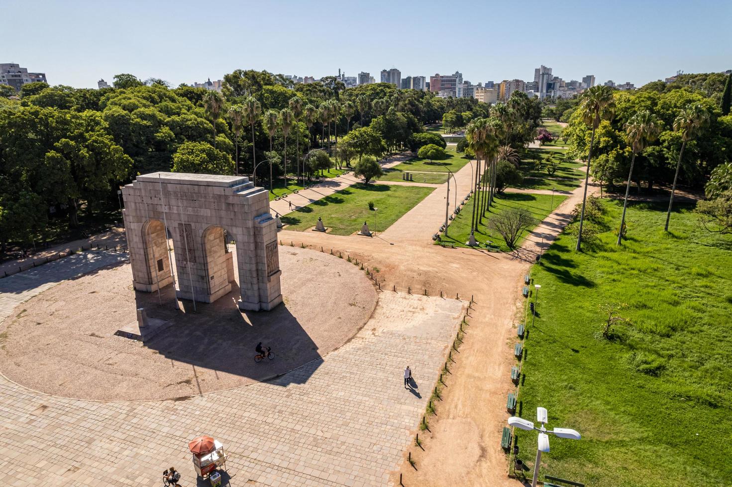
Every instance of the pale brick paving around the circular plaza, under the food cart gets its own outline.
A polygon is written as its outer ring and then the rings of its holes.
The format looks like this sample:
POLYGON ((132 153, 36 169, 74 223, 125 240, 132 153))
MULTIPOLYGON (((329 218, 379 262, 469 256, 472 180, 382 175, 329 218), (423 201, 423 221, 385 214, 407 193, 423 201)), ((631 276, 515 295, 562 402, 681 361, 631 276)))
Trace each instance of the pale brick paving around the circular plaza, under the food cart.
MULTIPOLYGON (((74 276, 121 256, 74 258, 84 264, 49 264, 44 274, 74 276)), ((324 358, 272 382, 184 401, 61 399, 0 377, 0 485, 154 485, 171 465, 183 485, 193 485, 187 440, 204 433, 225 445, 233 486, 384 485, 418 426, 462 312, 460 301, 384 292, 362 331, 324 358), (406 365, 419 393, 403 388, 406 365)))

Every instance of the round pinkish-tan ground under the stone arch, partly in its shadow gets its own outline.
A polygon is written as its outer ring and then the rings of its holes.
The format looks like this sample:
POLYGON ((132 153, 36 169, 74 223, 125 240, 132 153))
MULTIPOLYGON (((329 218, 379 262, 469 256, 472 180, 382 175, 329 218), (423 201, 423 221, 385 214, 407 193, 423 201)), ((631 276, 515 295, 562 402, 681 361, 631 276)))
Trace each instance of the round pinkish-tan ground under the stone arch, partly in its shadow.
MULTIPOLYGON (((236 255, 236 253, 234 253, 236 255)), ((356 266, 309 249, 280 247, 285 306, 239 312, 239 287, 216 303, 176 311, 172 286, 132 290, 130 265, 63 282, 18 306, 0 325, 0 370, 10 380, 81 399, 167 399, 261 381, 346 343, 378 300, 356 266), (114 333, 144 307, 170 328, 143 345, 114 333), (181 320, 182 315, 185 320, 181 320), (275 360, 255 363, 263 341, 275 360)))

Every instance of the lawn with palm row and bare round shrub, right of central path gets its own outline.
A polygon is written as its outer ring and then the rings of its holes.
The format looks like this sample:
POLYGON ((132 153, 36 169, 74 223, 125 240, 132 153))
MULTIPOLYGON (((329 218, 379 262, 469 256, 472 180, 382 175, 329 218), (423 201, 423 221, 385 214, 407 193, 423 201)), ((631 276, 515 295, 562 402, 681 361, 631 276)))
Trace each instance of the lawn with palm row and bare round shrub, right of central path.
MULTIPOLYGON (((539 224, 541 220, 545 219, 545 217, 550 214, 551 205, 553 205, 553 208, 556 208, 566 198, 567 197, 563 195, 554 195, 554 197, 552 198, 551 195, 504 193, 503 195, 497 195, 493 198, 492 214, 498 214, 502 211, 506 211, 508 208, 526 208, 531 212, 531 215, 534 216, 535 219, 537 219, 537 224, 539 224)), ((468 204, 466 204, 463 209, 460 210, 460 214, 458 214, 458 216, 456 216, 455 219, 450 222, 447 229, 447 233, 449 234, 449 236, 442 237, 442 241, 444 243, 454 243, 456 246, 466 247, 465 243, 468 241, 468 238, 470 236, 470 223, 471 213, 473 211, 473 201, 474 198, 471 197, 471 199, 468 201, 468 204)), ((485 241, 493 241, 493 244, 500 246, 501 250, 509 251, 510 249, 506 245, 506 241, 501 238, 501 235, 499 235, 494 230, 488 229, 488 222, 490 221, 490 217, 492 214, 487 213, 486 215, 488 216, 483 217, 482 224, 478 224, 475 233, 475 239, 480 243, 485 243, 485 241)), ((523 233, 523 235, 520 236, 519 241, 516 245, 520 246, 524 238, 526 238, 526 233, 523 233)))

